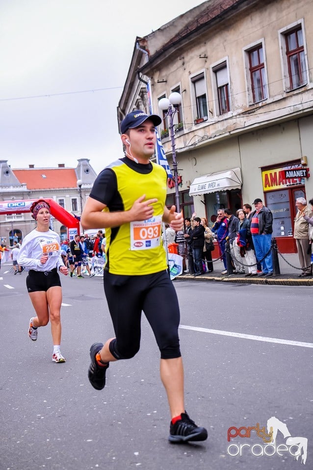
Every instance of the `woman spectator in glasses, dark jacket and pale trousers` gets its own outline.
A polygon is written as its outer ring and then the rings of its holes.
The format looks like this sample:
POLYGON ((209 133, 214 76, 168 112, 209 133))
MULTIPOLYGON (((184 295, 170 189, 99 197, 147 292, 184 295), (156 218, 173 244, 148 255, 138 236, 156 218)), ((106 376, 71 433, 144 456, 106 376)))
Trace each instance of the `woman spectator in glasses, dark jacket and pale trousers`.
POLYGON ((237 217, 239 219, 238 244, 236 249, 234 245, 235 256, 237 256, 237 254, 239 254, 240 257, 242 254, 244 255, 248 266, 248 274, 246 276, 257 276, 257 259, 254 253, 249 219, 242 209, 237 211, 237 217))

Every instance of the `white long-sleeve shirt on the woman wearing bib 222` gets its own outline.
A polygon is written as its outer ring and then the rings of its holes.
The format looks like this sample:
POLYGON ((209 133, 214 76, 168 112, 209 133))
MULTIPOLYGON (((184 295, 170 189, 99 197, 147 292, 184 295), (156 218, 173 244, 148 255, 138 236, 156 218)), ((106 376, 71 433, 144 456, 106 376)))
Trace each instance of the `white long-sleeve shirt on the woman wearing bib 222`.
POLYGON ((59 235, 50 229, 48 232, 32 230, 23 239, 17 262, 20 266, 42 272, 64 266, 59 235), (48 260, 45 264, 41 264, 40 258, 44 253, 48 253, 48 260))

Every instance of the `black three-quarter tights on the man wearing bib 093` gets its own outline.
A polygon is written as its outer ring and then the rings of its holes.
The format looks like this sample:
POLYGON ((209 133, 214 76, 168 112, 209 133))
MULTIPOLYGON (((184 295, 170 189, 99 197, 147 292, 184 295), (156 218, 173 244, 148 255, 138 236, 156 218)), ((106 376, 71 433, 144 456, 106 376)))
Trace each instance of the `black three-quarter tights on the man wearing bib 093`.
POLYGON ((104 292, 116 336, 110 352, 116 359, 130 359, 139 351, 142 311, 153 329, 161 358, 181 356, 178 299, 166 271, 144 276, 104 271, 104 292))

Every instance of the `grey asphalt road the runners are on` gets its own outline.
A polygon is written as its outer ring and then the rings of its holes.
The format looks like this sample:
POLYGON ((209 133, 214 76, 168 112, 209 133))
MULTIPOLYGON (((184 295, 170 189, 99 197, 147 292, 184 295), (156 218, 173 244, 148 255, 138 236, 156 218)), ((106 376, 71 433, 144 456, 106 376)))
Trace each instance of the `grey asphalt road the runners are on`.
MULTIPOLYGON (((244 434, 257 423, 266 428, 272 416, 292 437, 308 439, 302 468, 313 468, 311 288, 175 282, 186 409, 209 431, 204 443, 175 445, 167 441, 170 418, 147 321, 140 352, 112 364, 107 386, 97 392, 87 378, 89 347, 113 335, 102 279, 62 276, 68 305, 62 306, 61 352, 67 362, 55 364, 49 325, 37 342, 27 336, 33 310, 26 274, 5 271, 2 266, 0 470, 297 469, 301 457, 296 461, 289 452, 296 448, 254 455, 265 446, 256 431, 228 442, 230 427, 233 433, 243 427, 244 434), (268 337, 274 339, 260 341, 268 337)), ((278 432, 276 446, 286 437, 278 432)))

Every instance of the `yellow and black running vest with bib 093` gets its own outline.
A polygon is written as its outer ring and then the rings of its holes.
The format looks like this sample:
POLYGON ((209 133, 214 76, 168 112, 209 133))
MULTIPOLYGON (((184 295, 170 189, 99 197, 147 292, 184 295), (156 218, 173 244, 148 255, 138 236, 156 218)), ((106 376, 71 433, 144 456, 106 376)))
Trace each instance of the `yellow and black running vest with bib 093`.
MULTIPOLYGON (((157 199, 153 217, 147 221, 123 224, 106 229, 108 271, 120 275, 153 274, 167 269, 161 242, 161 220, 165 206, 167 175, 160 165, 152 163, 149 174, 138 173, 120 160, 109 165, 117 180, 117 190, 129 211, 143 194, 145 200, 157 199), (113 236, 112 236, 113 235, 113 236)), ((108 211, 108 208, 104 210, 108 211)))

